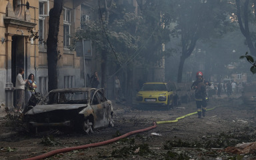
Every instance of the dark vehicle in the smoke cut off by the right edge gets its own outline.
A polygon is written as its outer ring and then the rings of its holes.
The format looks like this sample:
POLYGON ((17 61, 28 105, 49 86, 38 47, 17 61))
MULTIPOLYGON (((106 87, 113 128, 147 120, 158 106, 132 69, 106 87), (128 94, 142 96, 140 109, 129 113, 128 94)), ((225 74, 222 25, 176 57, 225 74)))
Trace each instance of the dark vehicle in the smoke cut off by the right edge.
POLYGON ((243 103, 256 105, 256 83, 245 85, 242 91, 243 103))

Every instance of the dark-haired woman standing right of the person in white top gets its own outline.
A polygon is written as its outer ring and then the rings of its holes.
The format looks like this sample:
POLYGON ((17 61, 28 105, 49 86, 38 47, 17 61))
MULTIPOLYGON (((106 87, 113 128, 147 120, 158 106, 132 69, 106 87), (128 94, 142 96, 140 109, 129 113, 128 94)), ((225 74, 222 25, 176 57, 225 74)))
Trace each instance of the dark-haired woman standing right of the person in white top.
POLYGON ((25 105, 29 102, 29 99, 32 94, 35 93, 35 89, 37 88, 37 83, 35 82, 35 75, 31 73, 27 78, 27 83, 25 86, 25 105))

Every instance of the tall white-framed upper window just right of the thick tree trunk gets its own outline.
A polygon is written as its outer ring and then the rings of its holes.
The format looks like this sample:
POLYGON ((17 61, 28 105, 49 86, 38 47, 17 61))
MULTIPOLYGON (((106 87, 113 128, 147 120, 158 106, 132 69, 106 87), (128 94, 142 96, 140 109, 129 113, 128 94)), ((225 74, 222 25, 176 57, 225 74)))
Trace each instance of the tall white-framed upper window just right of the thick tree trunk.
POLYGON ((67 48, 70 45, 70 25, 71 11, 67 8, 63 9, 63 47, 67 48))

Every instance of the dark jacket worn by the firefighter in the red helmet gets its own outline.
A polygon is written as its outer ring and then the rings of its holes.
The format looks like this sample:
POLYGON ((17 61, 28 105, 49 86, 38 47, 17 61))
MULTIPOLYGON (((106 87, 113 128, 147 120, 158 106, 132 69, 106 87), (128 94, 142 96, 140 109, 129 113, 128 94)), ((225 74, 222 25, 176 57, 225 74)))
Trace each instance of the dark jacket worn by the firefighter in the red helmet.
POLYGON ((209 86, 211 85, 211 82, 205 81, 205 79, 202 79, 201 81, 194 81, 193 84, 191 85, 191 89, 195 89, 196 101, 203 101, 208 99, 205 86, 206 83, 208 83, 209 86))

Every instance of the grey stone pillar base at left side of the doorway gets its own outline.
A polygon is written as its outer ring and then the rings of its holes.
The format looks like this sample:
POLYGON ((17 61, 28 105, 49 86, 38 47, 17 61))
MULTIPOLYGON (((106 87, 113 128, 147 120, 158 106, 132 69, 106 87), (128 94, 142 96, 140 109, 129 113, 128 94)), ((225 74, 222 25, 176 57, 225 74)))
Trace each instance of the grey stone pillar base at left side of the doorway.
POLYGON ((8 111, 13 111, 13 91, 15 87, 13 87, 13 83, 7 82, 5 85, 5 107, 7 107, 8 111))

